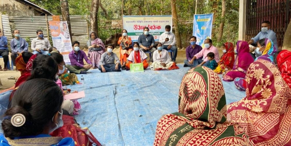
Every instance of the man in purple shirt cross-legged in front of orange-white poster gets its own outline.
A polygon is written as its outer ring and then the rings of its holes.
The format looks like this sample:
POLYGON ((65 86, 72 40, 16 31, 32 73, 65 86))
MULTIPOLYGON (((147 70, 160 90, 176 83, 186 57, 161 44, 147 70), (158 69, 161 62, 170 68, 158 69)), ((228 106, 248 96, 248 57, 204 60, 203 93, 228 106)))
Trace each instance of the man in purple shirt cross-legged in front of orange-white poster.
POLYGON ((71 62, 71 65, 66 65, 65 67, 68 68, 70 73, 75 74, 87 74, 86 71, 89 70, 92 67, 92 63, 86 56, 86 53, 82 50, 80 50, 80 42, 75 41, 72 44, 73 51, 69 54, 69 59, 71 62), (87 62, 87 65, 84 65, 84 61, 87 62))

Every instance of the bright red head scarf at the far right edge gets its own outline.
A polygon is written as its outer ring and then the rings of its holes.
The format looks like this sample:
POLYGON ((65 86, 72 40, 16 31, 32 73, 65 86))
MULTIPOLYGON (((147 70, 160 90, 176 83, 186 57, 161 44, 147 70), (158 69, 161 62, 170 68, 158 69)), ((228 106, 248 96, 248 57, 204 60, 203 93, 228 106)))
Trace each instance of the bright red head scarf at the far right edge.
POLYGON ((291 52, 282 50, 277 56, 277 66, 281 72, 281 77, 291 88, 291 52))

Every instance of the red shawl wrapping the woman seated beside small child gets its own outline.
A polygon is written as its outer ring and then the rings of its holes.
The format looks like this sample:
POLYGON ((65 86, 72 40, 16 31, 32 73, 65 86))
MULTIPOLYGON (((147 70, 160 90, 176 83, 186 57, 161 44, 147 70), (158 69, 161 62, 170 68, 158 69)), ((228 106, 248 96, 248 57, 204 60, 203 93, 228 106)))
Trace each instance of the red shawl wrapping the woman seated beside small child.
POLYGON ((224 65, 227 68, 233 68, 234 64, 234 48, 231 42, 226 42, 226 53, 223 53, 218 62, 218 66, 224 65))

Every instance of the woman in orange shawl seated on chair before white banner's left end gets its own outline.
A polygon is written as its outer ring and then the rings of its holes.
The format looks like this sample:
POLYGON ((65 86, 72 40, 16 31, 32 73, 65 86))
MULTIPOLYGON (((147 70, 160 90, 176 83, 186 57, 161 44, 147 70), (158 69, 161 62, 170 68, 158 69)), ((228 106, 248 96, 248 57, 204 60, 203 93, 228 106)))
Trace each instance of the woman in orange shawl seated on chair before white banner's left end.
POLYGON ((132 45, 131 45, 131 38, 127 35, 127 30, 122 30, 122 37, 119 38, 118 44, 120 45, 120 64, 122 65, 122 69, 126 69, 126 61, 127 57, 129 57, 129 54, 131 53, 132 45))

